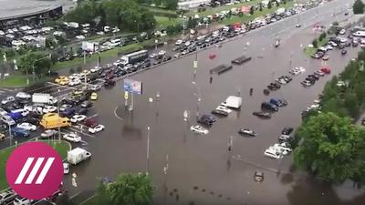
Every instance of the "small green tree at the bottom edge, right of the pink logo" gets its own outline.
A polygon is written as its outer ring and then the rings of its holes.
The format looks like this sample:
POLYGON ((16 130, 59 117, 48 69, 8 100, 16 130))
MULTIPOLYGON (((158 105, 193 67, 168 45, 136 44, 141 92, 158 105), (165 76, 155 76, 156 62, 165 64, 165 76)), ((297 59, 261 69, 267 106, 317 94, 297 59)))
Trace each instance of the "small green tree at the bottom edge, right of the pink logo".
POLYGON ((120 174, 107 185, 106 193, 112 204, 148 205, 152 202, 153 188, 147 174, 120 174))

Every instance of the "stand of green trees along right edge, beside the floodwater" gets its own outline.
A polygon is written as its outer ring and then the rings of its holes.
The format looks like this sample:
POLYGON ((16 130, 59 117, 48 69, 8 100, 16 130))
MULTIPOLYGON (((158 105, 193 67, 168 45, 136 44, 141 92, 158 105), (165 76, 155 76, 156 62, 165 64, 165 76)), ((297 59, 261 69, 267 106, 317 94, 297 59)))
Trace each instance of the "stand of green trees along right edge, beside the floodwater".
POLYGON ((354 123, 365 108, 365 51, 333 77, 320 95, 321 112, 310 112, 297 129, 294 161, 320 179, 365 181, 365 128, 354 123), (339 80, 343 81, 339 84, 339 80))

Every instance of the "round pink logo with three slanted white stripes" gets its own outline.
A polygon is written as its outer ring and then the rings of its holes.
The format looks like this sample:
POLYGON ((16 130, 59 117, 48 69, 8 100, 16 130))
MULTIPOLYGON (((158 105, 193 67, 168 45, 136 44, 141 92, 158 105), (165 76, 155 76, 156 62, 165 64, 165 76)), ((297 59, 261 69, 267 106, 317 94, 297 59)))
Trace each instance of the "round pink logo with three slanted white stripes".
POLYGON ((50 197, 63 179, 63 163, 57 151, 43 142, 16 148, 6 161, 6 179, 16 193, 30 200, 50 197))

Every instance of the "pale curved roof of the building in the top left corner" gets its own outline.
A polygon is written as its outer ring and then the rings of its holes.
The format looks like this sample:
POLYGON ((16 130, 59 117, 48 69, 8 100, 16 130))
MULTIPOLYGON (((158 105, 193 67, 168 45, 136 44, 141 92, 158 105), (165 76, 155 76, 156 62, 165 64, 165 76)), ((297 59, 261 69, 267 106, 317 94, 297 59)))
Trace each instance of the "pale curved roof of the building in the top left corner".
POLYGON ((0 0, 0 20, 36 15, 66 4, 65 0, 0 0))

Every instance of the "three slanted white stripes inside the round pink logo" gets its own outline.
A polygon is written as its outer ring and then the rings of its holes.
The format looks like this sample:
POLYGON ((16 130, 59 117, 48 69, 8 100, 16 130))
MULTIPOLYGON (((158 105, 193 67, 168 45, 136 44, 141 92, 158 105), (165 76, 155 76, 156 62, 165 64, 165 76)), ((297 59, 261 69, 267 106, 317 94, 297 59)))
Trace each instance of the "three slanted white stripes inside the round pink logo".
MULTIPOLYGON (((33 169, 30 171, 28 177, 26 178, 26 184, 31 184, 33 182, 33 179, 35 179, 36 173, 38 173, 39 168, 41 167, 44 160, 45 160, 45 158, 36 159, 36 164, 34 165, 33 169)), ((45 166, 43 167, 38 178, 36 179, 36 184, 41 184, 43 182, 43 180, 46 178, 48 170, 52 166, 54 160, 55 160, 55 158, 47 159, 45 166)), ((20 171, 19 175, 17 176, 15 184, 21 184, 23 182, 23 179, 26 177, 26 173, 28 172, 33 161, 34 161, 34 158, 26 159, 26 163, 24 164, 23 169, 20 171)))

